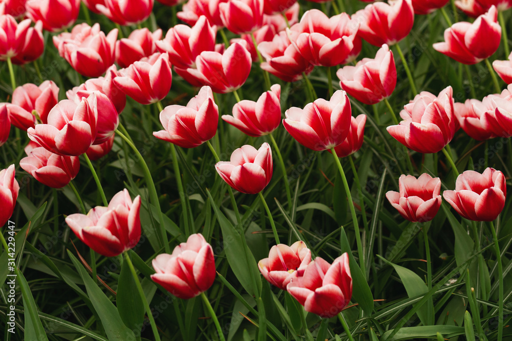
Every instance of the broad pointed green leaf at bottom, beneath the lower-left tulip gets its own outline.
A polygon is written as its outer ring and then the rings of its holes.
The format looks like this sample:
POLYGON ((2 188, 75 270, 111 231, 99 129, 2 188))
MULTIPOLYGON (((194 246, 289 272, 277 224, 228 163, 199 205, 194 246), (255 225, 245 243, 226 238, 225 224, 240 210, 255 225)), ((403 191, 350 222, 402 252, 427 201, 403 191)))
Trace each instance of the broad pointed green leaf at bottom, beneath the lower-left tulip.
POLYGON ((125 341, 127 339, 134 339, 135 334, 131 329, 124 325, 114 304, 109 300, 105 293, 101 291, 98 285, 94 283, 86 269, 83 268, 82 264, 80 264, 78 259, 76 259, 69 250, 68 256, 71 258, 71 261, 82 277, 83 283, 86 285, 87 294, 91 299, 96 313, 101 319, 101 323, 103 324, 109 341, 125 341))

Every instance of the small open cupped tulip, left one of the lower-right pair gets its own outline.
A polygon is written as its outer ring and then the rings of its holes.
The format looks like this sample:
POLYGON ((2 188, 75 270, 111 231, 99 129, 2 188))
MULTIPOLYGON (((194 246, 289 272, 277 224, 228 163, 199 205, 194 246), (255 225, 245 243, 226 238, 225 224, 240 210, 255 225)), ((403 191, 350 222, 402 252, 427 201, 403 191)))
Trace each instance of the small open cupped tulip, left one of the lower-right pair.
POLYGON ((426 222, 434 219, 441 207, 441 180, 427 173, 418 178, 412 175, 400 175, 400 192, 389 191, 386 198, 398 213, 412 222, 426 222))

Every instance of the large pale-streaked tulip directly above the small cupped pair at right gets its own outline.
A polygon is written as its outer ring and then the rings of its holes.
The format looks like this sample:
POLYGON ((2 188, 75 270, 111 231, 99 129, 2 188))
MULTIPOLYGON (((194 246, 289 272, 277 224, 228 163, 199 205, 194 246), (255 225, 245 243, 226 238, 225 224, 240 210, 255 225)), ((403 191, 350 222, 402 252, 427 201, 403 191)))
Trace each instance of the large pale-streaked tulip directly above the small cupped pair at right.
POLYGON ((453 89, 445 88, 435 96, 422 92, 400 111, 403 121, 389 126, 388 132, 402 145, 418 153, 437 153, 455 134, 453 89))

